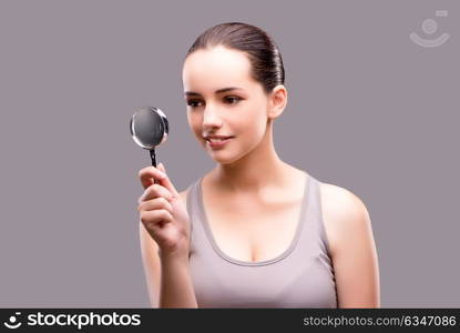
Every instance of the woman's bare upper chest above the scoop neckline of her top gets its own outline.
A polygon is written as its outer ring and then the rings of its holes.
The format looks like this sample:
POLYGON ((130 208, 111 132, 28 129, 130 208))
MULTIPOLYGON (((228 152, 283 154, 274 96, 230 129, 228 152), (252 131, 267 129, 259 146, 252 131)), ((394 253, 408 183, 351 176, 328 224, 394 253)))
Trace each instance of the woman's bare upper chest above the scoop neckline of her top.
POLYGON ((259 262, 284 253, 293 242, 303 198, 263 202, 203 195, 207 226, 214 242, 232 259, 259 262))

